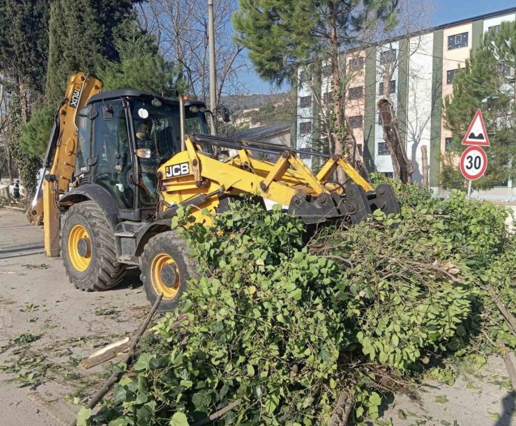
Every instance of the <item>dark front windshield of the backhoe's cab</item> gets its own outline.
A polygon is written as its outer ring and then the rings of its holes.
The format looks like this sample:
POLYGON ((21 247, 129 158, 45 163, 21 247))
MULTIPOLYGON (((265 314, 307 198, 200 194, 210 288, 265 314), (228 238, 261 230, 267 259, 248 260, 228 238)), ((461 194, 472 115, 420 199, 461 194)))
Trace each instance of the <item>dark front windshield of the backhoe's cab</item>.
MULTIPOLYGON (((163 103, 155 107, 149 100, 132 100, 132 123, 136 135, 136 148, 149 149, 149 165, 160 165, 181 151, 181 129, 178 105, 163 103)), ((203 112, 192 113, 186 109, 185 132, 208 134, 208 125, 203 112)))

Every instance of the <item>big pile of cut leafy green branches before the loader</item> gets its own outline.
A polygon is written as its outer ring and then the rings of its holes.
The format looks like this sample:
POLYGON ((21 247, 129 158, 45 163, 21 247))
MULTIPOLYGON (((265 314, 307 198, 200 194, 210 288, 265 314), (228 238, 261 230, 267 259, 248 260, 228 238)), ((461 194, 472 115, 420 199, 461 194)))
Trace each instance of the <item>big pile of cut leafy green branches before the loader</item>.
POLYGON ((308 245, 278 208, 236 201, 211 228, 181 213, 201 278, 82 422, 344 425, 412 392, 421 358, 514 349, 499 309, 516 302, 507 213, 401 189, 403 220, 375 213, 308 245))

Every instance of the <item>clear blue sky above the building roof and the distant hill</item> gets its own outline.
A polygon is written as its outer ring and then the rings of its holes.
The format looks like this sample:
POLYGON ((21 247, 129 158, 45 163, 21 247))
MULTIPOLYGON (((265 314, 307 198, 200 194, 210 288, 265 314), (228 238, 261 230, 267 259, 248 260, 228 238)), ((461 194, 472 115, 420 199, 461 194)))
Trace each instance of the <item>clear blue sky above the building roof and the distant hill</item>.
MULTIPOLYGON (((432 24, 441 25, 446 24, 446 22, 465 20, 469 17, 484 15, 485 13, 492 13, 515 6, 515 0, 436 0, 434 1, 432 24)), ((249 93, 271 93, 278 91, 278 89, 273 88, 267 82, 262 81, 254 73, 252 66, 248 72, 243 73, 240 77, 249 93)), ((288 90, 288 87, 282 89, 288 90)))

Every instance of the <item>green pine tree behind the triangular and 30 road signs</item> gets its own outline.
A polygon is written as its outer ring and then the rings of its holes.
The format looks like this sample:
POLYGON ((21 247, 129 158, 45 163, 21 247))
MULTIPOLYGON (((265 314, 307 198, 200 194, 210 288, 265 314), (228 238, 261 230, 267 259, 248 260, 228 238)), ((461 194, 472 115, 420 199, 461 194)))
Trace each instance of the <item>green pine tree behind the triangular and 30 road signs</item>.
POLYGON ((485 149, 487 172, 473 182, 475 188, 491 188, 516 178, 516 22, 503 22, 501 29, 485 34, 472 52, 464 70, 453 79, 453 96, 444 100, 446 126, 453 133, 453 153, 444 155, 441 173, 446 188, 464 185, 453 158, 466 146, 461 144, 478 108, 491 146, 485 149))

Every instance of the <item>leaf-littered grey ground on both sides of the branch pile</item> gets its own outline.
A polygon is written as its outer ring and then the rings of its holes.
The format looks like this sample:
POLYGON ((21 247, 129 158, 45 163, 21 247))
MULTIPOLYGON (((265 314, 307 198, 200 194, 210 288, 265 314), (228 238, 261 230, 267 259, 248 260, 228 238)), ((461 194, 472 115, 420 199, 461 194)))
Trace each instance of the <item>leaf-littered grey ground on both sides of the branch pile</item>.
MULTIPOLYGON (((111 291, 86 293, 68 282, 61 259, 43 254, 43 229, 0 210, 1 425, 66 425, 100 388, 105 365, 79 360, 133 335, 149 305, 130 271, 111 291)), ((500 358, 464 371, 453 386, 429 381, 415 402, 397 395, 382 420, 394 425, 508 426, 515 396, 500 358)))

